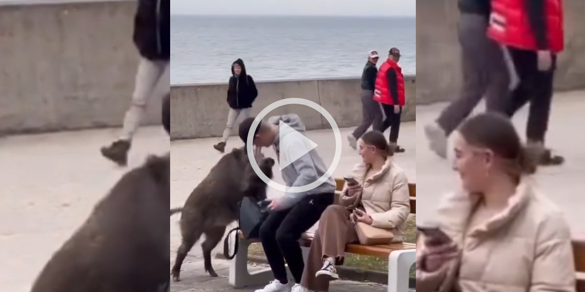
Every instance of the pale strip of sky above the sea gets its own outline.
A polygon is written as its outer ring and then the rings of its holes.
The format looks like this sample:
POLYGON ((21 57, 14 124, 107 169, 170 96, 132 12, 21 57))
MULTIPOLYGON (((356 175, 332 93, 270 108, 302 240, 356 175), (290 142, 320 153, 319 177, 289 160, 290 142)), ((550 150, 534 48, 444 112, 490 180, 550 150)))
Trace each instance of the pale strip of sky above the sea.
POLYGON ((415 16, 416 0, 172 0, 171 14, 415 16))

